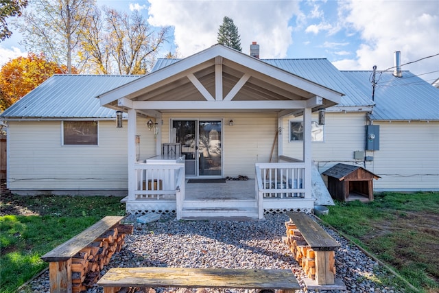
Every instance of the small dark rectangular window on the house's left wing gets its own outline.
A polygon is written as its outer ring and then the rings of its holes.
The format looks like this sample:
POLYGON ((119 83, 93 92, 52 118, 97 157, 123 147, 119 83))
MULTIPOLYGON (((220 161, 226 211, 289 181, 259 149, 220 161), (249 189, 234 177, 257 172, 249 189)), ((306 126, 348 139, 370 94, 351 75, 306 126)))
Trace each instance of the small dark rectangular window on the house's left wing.
POLYGON ((64 145, 97 145, 97 121, 63 121, 64 145))

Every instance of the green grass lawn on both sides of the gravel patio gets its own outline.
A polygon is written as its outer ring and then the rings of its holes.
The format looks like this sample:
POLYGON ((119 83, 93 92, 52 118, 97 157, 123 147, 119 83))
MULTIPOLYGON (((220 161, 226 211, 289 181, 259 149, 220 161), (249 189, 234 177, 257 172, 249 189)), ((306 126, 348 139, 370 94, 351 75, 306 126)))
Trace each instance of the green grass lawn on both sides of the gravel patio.
MULTIPOLYGON (((0 198, 0 292, 15 292, 47 268, 40 256, 106 215, 123 215, 119 197, 0 198)), ((439 193, 337 202, 322 220, 388 263, 416 288, 439 292, 439 193)))

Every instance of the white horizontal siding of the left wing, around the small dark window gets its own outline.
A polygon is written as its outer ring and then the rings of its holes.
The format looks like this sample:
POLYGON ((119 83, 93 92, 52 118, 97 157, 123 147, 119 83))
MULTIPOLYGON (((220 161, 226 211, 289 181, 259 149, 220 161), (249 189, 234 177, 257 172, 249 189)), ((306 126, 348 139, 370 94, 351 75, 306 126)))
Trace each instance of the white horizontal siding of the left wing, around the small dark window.
MULTIPOLYGON (((127 128, 99 121, 98 145, 62 145, 61 121, 10 121, 8 188, 12 191, 128 189, 127 128)), ((138 120, 141 154, 155 153, 154 134, 138 120)), ((58 192, 59 193, 59 192, 58 192)))

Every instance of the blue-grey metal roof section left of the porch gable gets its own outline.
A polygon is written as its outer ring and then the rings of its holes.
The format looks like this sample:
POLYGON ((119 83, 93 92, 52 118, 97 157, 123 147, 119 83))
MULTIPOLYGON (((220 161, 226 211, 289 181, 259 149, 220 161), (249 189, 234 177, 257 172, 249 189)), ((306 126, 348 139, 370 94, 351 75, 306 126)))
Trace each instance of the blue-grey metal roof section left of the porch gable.
POLYGON ((115 110, 100 106, 96 96, 141 76, 53 75, 0 116, 3 119, 114 118, 115 110))

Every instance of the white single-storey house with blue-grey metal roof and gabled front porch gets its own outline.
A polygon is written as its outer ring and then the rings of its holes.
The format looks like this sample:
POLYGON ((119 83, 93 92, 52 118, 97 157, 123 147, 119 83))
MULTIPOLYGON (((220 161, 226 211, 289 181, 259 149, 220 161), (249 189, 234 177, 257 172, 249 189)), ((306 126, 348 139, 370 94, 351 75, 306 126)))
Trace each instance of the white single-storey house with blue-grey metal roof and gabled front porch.
POLYGON ((359 164, 381 177, 377 191, 439 190, 439 90, 383 73, 372 100, 364 75, 222 45, 144 76, 54 75, 1 115, 8 188, 126 194, 131 213, 178 218, 310 211, 313 162, 359 164), (239 175, 250 180, 187 183, 239 175))

